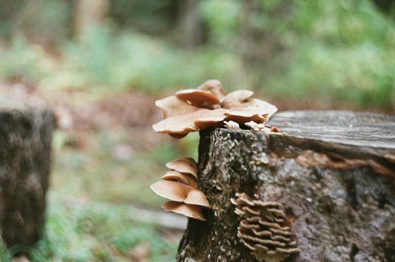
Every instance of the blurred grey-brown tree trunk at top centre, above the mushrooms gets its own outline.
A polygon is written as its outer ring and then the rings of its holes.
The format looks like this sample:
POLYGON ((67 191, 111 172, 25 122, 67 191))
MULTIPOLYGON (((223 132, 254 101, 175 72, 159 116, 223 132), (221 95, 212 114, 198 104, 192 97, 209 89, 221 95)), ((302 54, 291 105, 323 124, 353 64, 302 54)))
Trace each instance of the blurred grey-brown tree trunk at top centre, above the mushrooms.
POLYGON ((204 42, 204 25, 199 16, 200 0, 178 1, 179 42, 186 48, 194 48, 204 42))

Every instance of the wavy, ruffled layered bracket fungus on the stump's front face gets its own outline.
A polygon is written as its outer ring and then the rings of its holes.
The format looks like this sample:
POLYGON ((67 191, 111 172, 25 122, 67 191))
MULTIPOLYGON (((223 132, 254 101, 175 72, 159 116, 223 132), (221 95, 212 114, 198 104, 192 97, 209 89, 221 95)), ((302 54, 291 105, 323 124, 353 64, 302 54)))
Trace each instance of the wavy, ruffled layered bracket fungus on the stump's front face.
POLYGON ((234 213, 244 218, 238 237, 259 261, 281 262, 299 252, 280 203, 251 200, 245 193, 236 193, 236 197, 231 199, 234 213))

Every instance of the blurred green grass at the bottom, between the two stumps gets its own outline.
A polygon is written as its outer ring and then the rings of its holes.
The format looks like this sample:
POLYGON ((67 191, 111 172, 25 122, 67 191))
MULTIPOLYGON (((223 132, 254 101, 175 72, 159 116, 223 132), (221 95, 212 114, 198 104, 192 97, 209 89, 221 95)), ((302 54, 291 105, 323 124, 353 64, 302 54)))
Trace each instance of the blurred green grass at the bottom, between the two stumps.
POLYGON ((32 262, 126 262, 142 249, 147 261, 174 261, 178 241, 166 239, 164 229, 131 220, 127 213, 127 205, 81 203, 51 193, 44 238, 35 248, 3 246, 0 260, 7 262, 24 251, 32 262))

